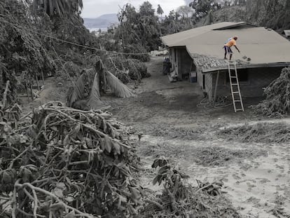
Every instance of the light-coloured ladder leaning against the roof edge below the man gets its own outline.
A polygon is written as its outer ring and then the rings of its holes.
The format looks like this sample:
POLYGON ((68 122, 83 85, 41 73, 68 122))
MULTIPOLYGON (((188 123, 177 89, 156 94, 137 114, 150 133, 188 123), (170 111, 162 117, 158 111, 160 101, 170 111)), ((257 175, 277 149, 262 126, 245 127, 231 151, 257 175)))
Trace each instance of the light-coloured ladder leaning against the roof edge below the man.
POLYGON ((234 110, 235 112, 244 111, 240 84, 239 80, 237 79, 237 62, 235 62, 235 60, 228 60, 228 76, 230 79, 230 91, 232 93, 234 110), (234 67, 234 70, 232 70, 231 67, 234 67))

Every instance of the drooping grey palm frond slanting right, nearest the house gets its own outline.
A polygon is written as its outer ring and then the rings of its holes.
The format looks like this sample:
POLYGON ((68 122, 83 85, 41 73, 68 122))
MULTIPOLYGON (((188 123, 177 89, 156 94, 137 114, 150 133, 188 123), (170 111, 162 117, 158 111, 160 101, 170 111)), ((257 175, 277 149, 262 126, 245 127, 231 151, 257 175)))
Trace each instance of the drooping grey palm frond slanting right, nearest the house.
POLYGON ((111 87, 112 92, 117 97, 133 97, 130 88, 127 88, 116 76, 114 76, 110 71, 106 71, 106 83, 111 87))

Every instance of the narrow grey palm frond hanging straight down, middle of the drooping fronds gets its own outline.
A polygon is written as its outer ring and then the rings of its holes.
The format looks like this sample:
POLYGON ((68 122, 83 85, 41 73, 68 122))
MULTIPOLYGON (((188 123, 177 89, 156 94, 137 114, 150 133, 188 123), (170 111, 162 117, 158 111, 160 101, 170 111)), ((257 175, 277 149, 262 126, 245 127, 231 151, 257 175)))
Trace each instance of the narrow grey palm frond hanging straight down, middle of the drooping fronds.
POLYGON ((104 106, 105 104, 101 101, 101 95, 99 94, 99 73, 97 72, 92 83, 92 89, 90 90, 88 107, 90 109, 101 109, 104 106))

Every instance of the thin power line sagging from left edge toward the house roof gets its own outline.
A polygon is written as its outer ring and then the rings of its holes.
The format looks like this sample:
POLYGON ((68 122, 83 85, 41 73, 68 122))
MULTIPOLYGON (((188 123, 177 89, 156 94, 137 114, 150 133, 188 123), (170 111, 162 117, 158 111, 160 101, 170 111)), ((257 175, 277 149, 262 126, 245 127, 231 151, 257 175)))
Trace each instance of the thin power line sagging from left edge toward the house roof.
POLYGON ((9 25, 12 25, 14 27, 18 27, 18 28, 21 28, 21 29, 25 29, 25 30, 28 30, 29 32, 32 32, 32 33, 35 33, 35 34, 39 34, 41 36, 46 36, 46 37, 48 37, 50 39, 55 39, 57 41, 61 41, 63 43, 68 43, 68 44, 71 44, 71 45, 74 45, 74 46, 78 46, 78 47, 82 47, 82 48, 88 48, 88 49, 92 49, 92 50, 98 50, 98 51, 106 52, 106 53, 113 53, 113 54, 116 54, 116 55, 117 54, 120 54, 120 55, 148 55, 148 53, 120 53, 120 52, 112 51, 112 50, 102 50, 102 49, 93 48, 93 47, 90 47, 90 46, 83 46, 83 45, 78 44, 78 43, 73 43, 73 42, 70 42, 70 41, 66 41, 66 40, 63 40, 63 39, 56 38, 55 36, 51 36, 51 35, 48 35, 48 34, 42 34, 40 32, 36 32, 36 31, 34 31, 32 29, 29 29, 29 28, 26 28, 26 27, 21 27, 20 25, 13 24, 12 22, 8 22, 6 20, 0 20, 0 22, 5 22, 5 23, 8 23, 9 25))

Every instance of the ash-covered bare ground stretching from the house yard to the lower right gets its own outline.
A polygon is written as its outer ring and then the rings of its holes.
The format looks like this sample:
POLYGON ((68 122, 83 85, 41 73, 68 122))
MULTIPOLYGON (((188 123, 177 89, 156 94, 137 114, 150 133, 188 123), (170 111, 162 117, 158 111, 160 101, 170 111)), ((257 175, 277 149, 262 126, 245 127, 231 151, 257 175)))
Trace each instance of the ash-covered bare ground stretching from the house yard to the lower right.
MULTIPOLYGON (((154 57, 148 69, 152 76, 142 81, 138 97, 116 100, 112 110, 118 119, 144 133, 139 154, 145 168, 150 172, 156 156, 170 157, 186 170, 195 186, 195 179, 212 182, 223 178, 223 191, 243 217, 290 217, 289 144, 242 143, 215 135, 225 126, 268 120, 249 109, 235 114, 232 107, 202 107, 198 85, 169 83, 161 75, 160 57, 154 57)), ((252 103, 246 101, 247 106, 252 103)), ((141 180, 158 191, 158 186, 151 185, 152 178, 149 173, 141 180)))

